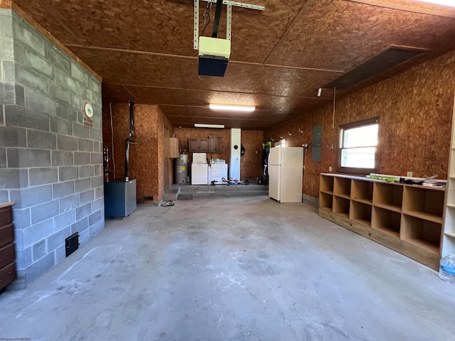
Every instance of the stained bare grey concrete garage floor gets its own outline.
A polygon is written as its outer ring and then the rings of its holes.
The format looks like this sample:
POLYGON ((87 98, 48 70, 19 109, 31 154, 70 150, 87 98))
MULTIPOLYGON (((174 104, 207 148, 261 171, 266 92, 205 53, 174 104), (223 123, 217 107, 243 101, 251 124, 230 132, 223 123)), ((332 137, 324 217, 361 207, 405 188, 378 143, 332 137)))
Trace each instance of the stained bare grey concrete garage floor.
POLYGON ((455 286, 264 190, 141 206, 31 286, 0 338, 455 340, 455 286))

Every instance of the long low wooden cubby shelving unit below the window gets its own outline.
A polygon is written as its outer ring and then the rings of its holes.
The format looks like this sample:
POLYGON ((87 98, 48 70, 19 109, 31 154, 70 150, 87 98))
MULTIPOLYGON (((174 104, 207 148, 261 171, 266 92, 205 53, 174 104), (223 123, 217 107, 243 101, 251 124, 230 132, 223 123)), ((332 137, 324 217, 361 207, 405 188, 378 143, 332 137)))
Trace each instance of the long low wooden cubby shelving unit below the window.
MULTIPOLYGON (((455 174, 453 181, 455 185, 455 174)), ((432 269, 439 269, 441 235, 455 247, 455 186, 448 195, 451 207, 446 210, 452 215, 446 213, 447 235, 442 233, 444 188, 341 174, 321 174, 320 183, 321 217, 432 269)))

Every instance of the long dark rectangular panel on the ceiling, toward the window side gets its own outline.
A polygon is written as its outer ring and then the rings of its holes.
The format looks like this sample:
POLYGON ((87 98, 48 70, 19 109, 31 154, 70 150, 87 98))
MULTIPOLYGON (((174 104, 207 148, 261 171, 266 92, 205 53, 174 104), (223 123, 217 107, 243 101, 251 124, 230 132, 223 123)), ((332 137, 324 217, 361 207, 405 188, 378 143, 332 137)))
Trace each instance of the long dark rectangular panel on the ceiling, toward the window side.
POLYGON ((421 55, 424 51, 390 46, 390 48, 382 51, 379 55, 375 55, 375 57, 367 60, 365 63, 358 65, 358 67, 328 83, 324 88, 333 89, 336 87, 337 90, 348 89, 372 77, 380 76, 398 65, 421 55))

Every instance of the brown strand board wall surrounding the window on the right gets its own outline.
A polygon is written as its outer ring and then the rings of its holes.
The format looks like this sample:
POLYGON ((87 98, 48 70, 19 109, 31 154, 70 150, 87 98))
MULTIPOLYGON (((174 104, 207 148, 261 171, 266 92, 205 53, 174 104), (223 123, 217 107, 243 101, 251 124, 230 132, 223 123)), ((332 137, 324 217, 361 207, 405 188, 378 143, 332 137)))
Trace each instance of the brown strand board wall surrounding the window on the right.
MULTIPOLYGON (((455 52, 414 67, 342 97, 336 102, 335 129, 330 104, 314 110, 312 124, 323 125, 321 172, 336 166, 338 125, 380 116, 380 173, 445 179, 449 162, 451 115, 455 92, 455 52), (334 146, 331 149, 331 146, 334 146)), ((297 120, 299 121, 299 119, 297 120)), ((277 136, 295 121, 264 131, 277 136)), ((304 193, 317 196, 317 166, 305 161, 304 193)))

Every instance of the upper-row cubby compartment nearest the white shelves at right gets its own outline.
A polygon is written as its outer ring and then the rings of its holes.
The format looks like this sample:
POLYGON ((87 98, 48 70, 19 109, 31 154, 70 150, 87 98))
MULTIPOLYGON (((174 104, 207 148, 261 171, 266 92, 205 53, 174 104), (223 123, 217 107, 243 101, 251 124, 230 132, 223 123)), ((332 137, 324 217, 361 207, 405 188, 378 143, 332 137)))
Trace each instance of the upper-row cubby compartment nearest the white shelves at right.
POLYGON ((444 189, 405 186, 403 212, 432 222, 442 223, 444 189))

